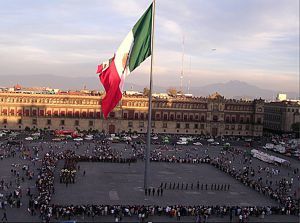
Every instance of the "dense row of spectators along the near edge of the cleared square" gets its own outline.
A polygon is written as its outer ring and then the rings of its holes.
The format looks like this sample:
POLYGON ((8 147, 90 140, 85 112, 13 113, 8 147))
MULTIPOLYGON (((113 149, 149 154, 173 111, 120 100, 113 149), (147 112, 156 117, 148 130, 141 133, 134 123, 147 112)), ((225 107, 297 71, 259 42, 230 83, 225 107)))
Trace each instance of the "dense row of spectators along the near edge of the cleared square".
MULTIPOLYGON (((140 222, 151 216, 192 217, 197 223, 206 222, 210 216, 242 219, 245 222, 249 216, 264 218, 271 214, 287 215, 285 207, 279 206, 184 206, 184 205, 52 205, 51 210, 55 219, 71 219, 73 217, 105 217, 112 216, 116 221, 122 221, 123 217, 135 217, 140 222), (202 221, 201 221, 202 219, 202 221)), ((296 214, 295 210, 289 214, 296 214)), ((179 219, 178 219, 179 217, 179 219)), ((227 220, 228 221, 228 220, 227 220)))

